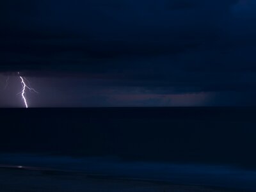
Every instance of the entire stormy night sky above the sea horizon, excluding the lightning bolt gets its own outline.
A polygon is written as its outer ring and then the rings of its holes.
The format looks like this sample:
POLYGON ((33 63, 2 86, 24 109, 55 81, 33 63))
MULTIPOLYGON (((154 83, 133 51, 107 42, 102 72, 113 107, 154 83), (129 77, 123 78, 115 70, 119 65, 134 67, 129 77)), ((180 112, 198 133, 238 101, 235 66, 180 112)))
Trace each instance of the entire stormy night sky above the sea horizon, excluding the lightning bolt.
POLYGON ((17 72, 30 107, 256 104, 253 0, 2 0, 0 28, 0 107, 17 72))

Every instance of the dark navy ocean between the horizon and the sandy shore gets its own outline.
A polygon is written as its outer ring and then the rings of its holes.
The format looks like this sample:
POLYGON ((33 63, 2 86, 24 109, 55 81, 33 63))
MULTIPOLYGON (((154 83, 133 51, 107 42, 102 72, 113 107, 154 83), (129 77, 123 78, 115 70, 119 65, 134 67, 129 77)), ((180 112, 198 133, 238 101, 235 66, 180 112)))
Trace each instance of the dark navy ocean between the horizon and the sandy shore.
POLYGON ((256 189, 256 108, 0 113, 0 164, 256 189))

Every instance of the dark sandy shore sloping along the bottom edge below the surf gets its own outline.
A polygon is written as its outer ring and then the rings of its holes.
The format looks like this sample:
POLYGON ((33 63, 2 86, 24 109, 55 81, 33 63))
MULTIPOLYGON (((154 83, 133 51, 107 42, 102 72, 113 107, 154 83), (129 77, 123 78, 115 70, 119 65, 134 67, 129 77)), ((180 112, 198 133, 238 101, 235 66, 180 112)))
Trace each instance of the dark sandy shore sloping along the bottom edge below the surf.
POLYGON ((159 192, 219 192, 202 186, 182 186, 134 179, 114 179, 56 170, 0 168, 0 191, 3 192, 71 192, 71 191, 159 191, 159 192))

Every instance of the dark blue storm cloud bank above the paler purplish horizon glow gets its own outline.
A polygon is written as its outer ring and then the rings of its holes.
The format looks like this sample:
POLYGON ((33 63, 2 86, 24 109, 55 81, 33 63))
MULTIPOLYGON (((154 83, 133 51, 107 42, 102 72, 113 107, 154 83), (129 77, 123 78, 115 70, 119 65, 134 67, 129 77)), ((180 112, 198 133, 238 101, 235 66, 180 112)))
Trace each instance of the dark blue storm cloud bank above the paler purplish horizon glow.
POLYGON ((253 1, 2 1, 0 70, 144 92, 256 88, 253 1))

